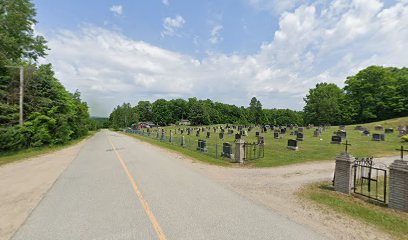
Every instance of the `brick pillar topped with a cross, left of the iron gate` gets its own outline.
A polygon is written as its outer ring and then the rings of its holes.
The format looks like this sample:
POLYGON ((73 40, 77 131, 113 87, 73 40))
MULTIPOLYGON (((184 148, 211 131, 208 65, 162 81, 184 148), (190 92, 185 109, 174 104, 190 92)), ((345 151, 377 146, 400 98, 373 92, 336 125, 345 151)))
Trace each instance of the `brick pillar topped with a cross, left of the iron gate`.
POLYGON ((336 157, 334 170, 334 190, 350 194, 353 188, 353 162, 354 157, 350 153, 343 152, 336 157))

